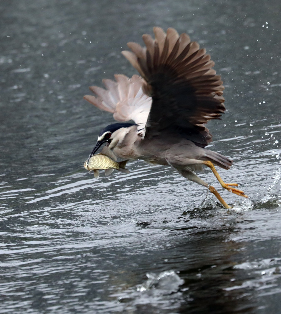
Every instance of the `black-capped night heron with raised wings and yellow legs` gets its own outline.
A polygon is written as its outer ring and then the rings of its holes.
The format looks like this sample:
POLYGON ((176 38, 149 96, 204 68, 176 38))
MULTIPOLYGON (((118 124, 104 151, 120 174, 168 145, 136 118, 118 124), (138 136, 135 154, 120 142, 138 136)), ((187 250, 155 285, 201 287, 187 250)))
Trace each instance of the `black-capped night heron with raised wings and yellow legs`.
POLYGON ((231 208, 196 175, 207 166, 224 189, 248 197, 237 183, 225 183, 214 167, 228 170, 233 161, 206 148, 212 141, 206 123, 221 119, 226 110, 221 77, 210 55, 186 33, 160 27, 153 32, 154 39, 142 36, 145 47, 129 42, 130 51, 121 52, 140 75, 115 74, 115 80, 102 80, 105 89, 91 86, 95 95, 84 96, 100 110, 113 113, 118 122, 101 130, 89 159, 106 144, 118 158, 171 166, 206 187, 224 208, 231 208))

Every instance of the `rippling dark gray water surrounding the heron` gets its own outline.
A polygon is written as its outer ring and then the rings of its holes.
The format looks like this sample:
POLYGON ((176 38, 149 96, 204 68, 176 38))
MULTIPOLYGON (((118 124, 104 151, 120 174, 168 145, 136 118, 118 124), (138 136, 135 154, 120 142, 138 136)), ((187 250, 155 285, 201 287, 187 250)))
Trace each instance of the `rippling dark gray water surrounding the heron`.
POLYGON ((0 3, 0 313, 280 313, 280 1, 0 3), (172 169, 82 167, 113 122, 89 85, 158 25, 211 53, 228 112, 210 123, 220 170, 249 200, 172 169))

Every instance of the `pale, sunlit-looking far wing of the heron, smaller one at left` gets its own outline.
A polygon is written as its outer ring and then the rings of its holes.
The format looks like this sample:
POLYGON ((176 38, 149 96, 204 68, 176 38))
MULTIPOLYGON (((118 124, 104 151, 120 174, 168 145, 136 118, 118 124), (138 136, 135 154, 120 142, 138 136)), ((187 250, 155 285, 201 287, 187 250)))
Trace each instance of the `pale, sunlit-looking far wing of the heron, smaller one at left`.
POLYGON ((91 86, 90 90, 97 97, 86 95, 84 99, 102 111, 113 113, 116 121, 133 120, 144 127, 152 103, 152 98, 142 90, 144 79, 139 75, 128 78, 122 74, 115 74, 114 77, 116 82, 111 79, 102 80, 106 89, 91 86))

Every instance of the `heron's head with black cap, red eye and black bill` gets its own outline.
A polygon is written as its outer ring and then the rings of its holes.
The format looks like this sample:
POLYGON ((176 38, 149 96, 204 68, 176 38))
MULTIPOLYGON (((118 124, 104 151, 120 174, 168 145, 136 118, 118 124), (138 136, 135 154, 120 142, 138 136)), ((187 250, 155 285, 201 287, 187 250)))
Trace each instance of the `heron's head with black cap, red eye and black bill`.
MULTIPOLYGON (((113 123, 105 127, 99 134, 96 142, 96 146, 92 150, 90 157, 96 153, 96 151, 104 143, 108 143, 108 147, 112 149, 117 143, 124 139, 124 136, 130 131, 130 129, 137 124, 135 123, 113 123)), ((89 158, 90 158, 89 157, 89 158)))

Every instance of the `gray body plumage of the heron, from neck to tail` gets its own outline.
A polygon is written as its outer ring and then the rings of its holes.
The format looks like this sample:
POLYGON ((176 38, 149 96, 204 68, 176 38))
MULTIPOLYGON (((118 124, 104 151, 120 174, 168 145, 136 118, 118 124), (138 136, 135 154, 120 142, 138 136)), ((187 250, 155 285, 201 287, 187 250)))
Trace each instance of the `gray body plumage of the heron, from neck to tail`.
POLYGON ((170 165, 177 170, 201 169, 200 161, 210 160, 215 165, 229 169, 232 161, 227 157, 201 148, 190 140, 179 138, 177 133, 165 133, 154 136, 152 139, 142 139, 138 135, 137 127, 128 130, 118 130, 114 138, 123 138, 109 144, 113 153, 124 159, 142 159, 147 163, 157 165, 170 165), (124 133, 127 132, 125 135, 124 133), (163 149, 164 148, 164 149, 163 149))

